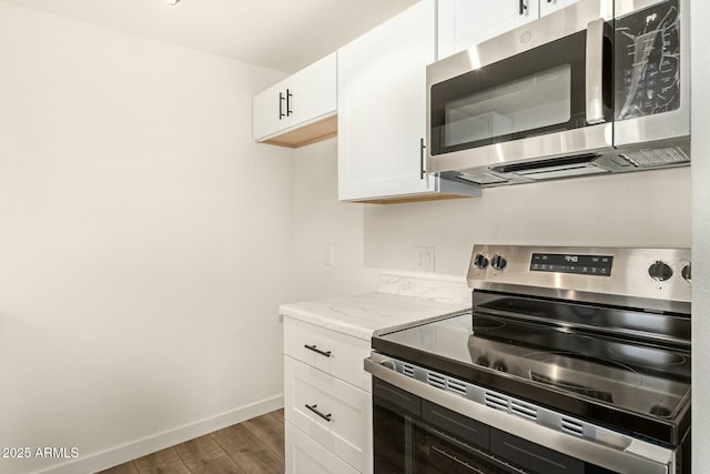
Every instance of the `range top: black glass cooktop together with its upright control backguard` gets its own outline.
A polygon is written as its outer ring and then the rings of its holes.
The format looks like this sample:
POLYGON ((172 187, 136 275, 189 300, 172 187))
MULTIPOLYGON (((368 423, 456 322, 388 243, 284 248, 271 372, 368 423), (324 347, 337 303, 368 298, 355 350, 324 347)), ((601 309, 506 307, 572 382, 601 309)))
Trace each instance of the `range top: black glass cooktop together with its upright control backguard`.
POLYGON ((476 245, 473 312, 376 335, 373 349, 679 444, 690 426, 689 265, 688 250, 476 245), (670 276, 649 271, 659 262, 670 276))

